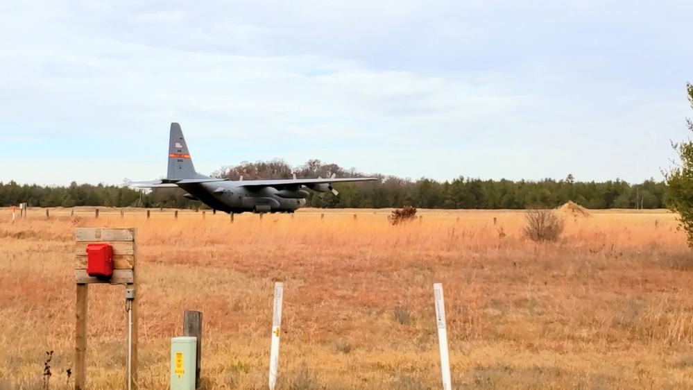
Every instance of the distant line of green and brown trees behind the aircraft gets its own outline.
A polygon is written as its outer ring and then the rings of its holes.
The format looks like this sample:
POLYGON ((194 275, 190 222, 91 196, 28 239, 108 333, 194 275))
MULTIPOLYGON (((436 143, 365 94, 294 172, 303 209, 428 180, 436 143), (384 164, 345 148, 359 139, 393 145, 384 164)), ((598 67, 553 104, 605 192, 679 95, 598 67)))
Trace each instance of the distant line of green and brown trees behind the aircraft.
MULTIPOLYGON (((382 208, 413 205, 431 209, 525 209, 556 207, 574 201, 590 209, 607 208, 665 208, 667 185, 654 179, 643 183, 608 180, 603 183, 580 182, 568 175, 563 180, 540 181, 481 180, 460 176, 443 183, 421 178, 409 180, 395 176, 364 175, 355 169, 343 169, 336 164, 310 160, 291 167, 284 160, 241 162, 235 167, 222 167, 212 176, 238 180, 259 178, 329 178, 375 176, 382 182, 337 183, 338 196, 330 192, 314 193, 308 207, 325 208, 382 208)), ((30 207, 176 207, 208 208, 199 201, 183 198, 181 189, 161 188, 148 194, 123 185, 89 185, 71 183, 67 187, 19 185, 14 181, 0 183, 0 205, 26 202, 30 207)))

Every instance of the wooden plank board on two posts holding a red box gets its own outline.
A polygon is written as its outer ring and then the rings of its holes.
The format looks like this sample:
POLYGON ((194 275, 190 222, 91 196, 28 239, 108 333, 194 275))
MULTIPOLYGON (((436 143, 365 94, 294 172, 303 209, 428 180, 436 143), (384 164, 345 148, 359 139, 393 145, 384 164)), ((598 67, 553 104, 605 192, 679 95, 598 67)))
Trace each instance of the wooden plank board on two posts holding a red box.
POLYGON ((75 390, 87 382, 87 298, 92 283, 126 287, 128 311, 127 388, 137 389, 137 231, 135 228, 77 228, 75 282, 77 284, 75 334, 75 390))

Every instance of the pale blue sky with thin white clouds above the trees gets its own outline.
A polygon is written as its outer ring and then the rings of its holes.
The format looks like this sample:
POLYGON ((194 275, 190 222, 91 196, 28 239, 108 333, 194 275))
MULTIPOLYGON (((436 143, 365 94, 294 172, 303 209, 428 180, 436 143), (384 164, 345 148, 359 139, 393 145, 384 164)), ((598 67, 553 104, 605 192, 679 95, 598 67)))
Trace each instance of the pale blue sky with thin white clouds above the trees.
POLYGON ((0 3, 0 181, 318 159, 453 180, 662 179, 690 135, 685 0, 0 3))

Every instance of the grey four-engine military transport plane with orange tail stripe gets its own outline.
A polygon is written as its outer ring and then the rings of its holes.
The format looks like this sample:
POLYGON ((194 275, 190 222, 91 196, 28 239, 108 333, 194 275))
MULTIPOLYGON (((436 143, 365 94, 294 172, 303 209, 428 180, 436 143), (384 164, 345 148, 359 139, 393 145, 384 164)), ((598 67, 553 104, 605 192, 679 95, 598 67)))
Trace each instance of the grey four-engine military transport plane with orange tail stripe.
POLYGON ((130 182, 128 185, 144 188, 180 187, 183 195, 194 201, 201 201, 228 213, 242 212, 294 212, 306 204, 310 195, 302 187, 315 192, 337 194, 330 183, 378 180, 378 178, 318 178, 270 180, 229 180, 212 178, 195 171, 183 131, 176 122, 171 124, 169 135, 169 171, 165 179, 130 182))

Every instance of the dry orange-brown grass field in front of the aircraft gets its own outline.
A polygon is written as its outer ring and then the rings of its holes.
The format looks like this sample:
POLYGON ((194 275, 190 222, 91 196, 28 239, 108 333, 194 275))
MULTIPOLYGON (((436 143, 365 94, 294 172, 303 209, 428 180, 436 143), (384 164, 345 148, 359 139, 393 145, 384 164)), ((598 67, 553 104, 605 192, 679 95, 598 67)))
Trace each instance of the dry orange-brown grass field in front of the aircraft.
MULTIPOLYGON (((454 389, 693 388, 693 259, 662 210, 562 214, 536 244, 523 212, 100 208, 0 209, 0 389, 42 389, 50 350, 50 389, 73 386, 74 232, 109 226, 137 228, 142 389, 169 387, 184 310, 203 312, 205 389, 266 389, 275 281, 280 389, 441 388, 434 282, 454 389)), ((123 288, 89 287, 89 389, 125 388, 125 325, 123 288)))

